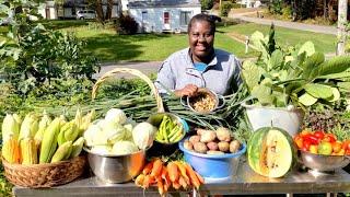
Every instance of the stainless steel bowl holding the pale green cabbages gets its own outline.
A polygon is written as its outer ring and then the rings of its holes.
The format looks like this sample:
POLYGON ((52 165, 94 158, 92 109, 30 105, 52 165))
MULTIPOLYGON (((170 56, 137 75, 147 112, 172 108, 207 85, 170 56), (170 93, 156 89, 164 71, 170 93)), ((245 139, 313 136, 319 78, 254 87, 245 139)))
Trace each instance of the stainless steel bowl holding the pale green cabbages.
POLYGON ((106 183, 124 183, 140 174, 145 164, 147 150, 125 155, 102 155, 90 151, 88 161, 93 173, 106 183))

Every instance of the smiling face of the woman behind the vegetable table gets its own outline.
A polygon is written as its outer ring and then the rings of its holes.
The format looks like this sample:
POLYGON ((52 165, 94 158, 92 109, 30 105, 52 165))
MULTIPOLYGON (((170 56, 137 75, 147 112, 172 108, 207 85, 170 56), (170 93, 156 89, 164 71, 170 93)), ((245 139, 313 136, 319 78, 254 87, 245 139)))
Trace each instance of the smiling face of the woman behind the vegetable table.
POLYGON ((189 47, 195 58, 206 58, 213 51, 214 32, 207 21, 195 21, 188 33, 189 47))

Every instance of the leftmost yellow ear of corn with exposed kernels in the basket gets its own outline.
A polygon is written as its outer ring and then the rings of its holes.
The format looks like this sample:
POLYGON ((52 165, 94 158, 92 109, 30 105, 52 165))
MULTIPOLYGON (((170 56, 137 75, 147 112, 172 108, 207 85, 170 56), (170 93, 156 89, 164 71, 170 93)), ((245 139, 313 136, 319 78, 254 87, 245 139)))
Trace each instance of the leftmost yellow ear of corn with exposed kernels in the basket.
POLYGON ((21 149, 18 139, 13 136, 3 143, 2 146, 2 157, 9 163, 21 163, 21 149))

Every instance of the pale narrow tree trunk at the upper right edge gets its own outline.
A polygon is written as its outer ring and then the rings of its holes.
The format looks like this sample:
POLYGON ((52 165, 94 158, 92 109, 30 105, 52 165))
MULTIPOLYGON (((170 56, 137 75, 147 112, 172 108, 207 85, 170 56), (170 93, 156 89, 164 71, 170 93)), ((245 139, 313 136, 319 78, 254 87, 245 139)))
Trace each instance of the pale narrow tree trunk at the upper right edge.
POLYGON ((337 44, 338 56, 341 56, 346 53, 347 16, 348 16, 348 0, 338 0, 338 44, 337 44))

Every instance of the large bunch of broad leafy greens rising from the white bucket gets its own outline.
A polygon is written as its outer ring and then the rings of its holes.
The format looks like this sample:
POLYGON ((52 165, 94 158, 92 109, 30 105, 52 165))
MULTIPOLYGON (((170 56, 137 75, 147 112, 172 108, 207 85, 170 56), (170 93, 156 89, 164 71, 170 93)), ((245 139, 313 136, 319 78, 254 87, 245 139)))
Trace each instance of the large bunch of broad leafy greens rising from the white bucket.
POLYGON ((268 36, 255 32, 252 42, 260 56, 256 62, 243 63, 242 76, 257 105, 305 107, 318 102, 327 104, 339 100, 339 90, 350 88, 345 82, 349 77, 345 71, 349 68, 350 57, 325 60, 324 54, 315 51, 311 42, 283 50, 275 42, 273 26, 268 36))

